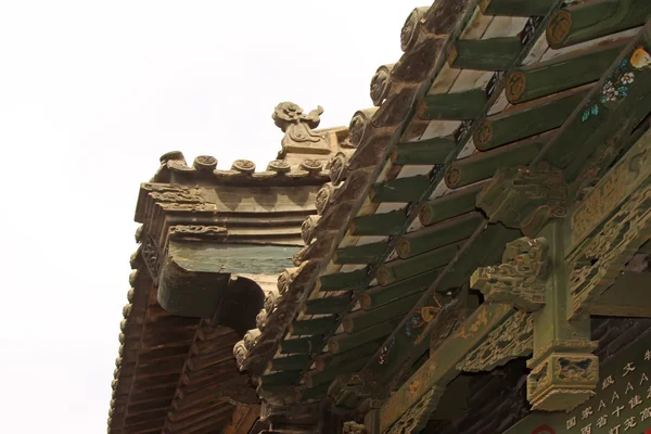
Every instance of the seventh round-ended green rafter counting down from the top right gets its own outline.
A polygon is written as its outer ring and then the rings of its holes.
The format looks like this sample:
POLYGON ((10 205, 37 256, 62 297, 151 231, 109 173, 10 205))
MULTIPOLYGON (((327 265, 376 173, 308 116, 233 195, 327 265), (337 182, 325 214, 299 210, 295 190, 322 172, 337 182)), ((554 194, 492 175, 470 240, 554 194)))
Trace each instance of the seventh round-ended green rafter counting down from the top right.
POLYGON ((394 259, 378 269, 378 283, 385 286, 445 266, 459 252, 460 243, 445 245, 407 259, 394 259))

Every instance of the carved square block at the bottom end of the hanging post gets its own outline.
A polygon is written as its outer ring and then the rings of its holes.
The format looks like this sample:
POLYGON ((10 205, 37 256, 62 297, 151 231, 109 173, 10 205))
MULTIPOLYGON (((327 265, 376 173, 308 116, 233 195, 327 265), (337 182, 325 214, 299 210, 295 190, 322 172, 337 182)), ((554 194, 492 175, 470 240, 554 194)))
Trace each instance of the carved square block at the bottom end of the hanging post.
POLYGON ((552 353, 535 366, 527 365, 532 368, 527 399, 534 410, 571 411, 595 395, 599 381, 597 356, 552 353))

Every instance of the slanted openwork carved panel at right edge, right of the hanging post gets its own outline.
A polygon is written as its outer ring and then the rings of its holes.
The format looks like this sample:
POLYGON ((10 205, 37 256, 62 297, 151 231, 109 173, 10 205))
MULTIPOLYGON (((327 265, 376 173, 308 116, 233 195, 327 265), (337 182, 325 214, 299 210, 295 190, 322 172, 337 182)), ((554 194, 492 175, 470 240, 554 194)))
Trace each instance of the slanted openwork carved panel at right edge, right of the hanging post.
POLYGON ((647 183, 638 188, 599 232, 586 240, 569 258, 571 318, 584 315, 651 238, 649 187, 647 183))

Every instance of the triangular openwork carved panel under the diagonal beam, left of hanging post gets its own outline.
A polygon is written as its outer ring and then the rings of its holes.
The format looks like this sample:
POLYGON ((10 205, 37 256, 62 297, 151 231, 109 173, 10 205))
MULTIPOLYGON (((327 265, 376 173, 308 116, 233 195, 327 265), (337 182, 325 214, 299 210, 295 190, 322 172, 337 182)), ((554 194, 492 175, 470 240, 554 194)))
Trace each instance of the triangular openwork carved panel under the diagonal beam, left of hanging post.
POLYGON ((528 356, 534 348, 534 317, 516 311, 495 328, 465 359, 457 363, 463 372, 490 371, 516 357, 528 356))

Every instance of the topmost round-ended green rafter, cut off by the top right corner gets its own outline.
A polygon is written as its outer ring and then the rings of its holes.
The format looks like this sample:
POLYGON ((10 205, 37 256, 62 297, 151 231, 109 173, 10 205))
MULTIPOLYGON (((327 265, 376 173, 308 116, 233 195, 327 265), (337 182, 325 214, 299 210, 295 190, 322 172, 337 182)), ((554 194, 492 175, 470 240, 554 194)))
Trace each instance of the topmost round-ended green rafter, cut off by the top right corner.
POLYGON ((649 0, 600 0, 557 11, 547 26, 547 41, 558 49, 641 26, 651 16, 649 0))

